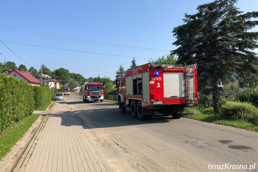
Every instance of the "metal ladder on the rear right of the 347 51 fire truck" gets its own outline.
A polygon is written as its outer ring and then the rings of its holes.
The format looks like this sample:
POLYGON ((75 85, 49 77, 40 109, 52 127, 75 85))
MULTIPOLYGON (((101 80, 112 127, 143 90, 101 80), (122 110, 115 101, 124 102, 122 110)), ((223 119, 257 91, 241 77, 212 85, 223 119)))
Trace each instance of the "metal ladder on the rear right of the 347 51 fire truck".
MULTIPOLYGON (((194 80, 194 69, 195 67, 186 66, 184 62, 184 67, 186 69, 186 101, 188 106, 195 105, 195 80, 194 80)), ((182 64, 181 63, 181 64, 182 64)), ((193 63, 192 63, 193 64, 193 63)), ((197 64, 196 64, 197 65, 197 64)))

